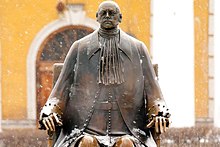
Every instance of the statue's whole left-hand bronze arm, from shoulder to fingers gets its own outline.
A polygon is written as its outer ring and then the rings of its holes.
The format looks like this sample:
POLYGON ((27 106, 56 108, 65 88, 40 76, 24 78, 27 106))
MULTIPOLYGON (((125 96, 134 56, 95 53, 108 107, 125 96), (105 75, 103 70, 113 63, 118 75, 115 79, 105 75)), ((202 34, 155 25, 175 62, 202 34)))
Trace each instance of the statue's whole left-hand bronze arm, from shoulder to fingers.
POLYGON ((74 80, 77 51, 78 43, 75 42, 65 58, 58 80, 40 112, 40 129, 54 131, 57 125, 62 125, 62 114, 65 109, 66 101, 69 99, 70 87, 74 80))

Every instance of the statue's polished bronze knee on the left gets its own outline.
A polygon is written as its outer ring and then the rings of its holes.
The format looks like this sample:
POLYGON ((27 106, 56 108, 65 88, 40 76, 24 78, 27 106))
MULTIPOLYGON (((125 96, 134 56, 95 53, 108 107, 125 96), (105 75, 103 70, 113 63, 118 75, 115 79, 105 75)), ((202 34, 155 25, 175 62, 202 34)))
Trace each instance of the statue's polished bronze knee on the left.
POLYGON ((79 142, 79 147, 99 147, 99 144, 95 137, 84 136, 79 142))

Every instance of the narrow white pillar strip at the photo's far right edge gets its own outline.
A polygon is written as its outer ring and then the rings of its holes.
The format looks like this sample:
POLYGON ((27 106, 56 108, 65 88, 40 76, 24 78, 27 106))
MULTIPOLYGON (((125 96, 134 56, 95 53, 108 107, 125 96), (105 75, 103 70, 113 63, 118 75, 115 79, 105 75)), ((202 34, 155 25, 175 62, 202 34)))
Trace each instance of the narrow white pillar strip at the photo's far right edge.
POLYGON ((220 127, 220 1, 214 1, 215 111, 214 125, 220 127))

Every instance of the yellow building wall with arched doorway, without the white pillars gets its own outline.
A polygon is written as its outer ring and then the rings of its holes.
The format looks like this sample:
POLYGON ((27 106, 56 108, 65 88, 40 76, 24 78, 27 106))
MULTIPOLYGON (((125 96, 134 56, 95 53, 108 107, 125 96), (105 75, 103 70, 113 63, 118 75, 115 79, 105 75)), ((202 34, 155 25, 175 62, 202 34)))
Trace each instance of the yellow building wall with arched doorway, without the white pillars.
MULTIPOLYGON (((51 91, 53 63, 63 62, 71 43, 98 28, 95 13, 102 0, 63 2, 64 10, 56 0, 1 1, 0 119, 4 127, 36 125, 39 110, 51 91)), ((151 0, 116 2, 123 14, 120 27, 150 48, 151 0)), ((199 67, 205 56, 203 66, 208 68, 208 3, 194 2, 195 28, 204 29, 202 33, 195 29, 195 112, 196 118, 202 119, 209 118, 209 76, 201 71, 204 67, 199 67), (207 52, 201 53, 201 46, 207 52)))

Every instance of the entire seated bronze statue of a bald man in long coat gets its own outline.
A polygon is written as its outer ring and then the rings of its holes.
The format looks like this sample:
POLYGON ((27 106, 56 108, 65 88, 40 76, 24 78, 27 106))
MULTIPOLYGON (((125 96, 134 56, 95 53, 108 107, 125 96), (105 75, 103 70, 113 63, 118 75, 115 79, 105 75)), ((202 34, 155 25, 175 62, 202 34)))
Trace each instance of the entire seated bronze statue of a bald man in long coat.
POLYGON ((156 146, 169 127, 144 43, 128 36, 113 1, 99 5, 100 28, 76 41, 40 114, 41 129, 56 132, 53 146, 156 146))

